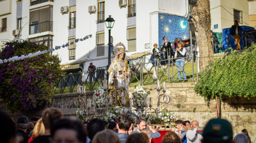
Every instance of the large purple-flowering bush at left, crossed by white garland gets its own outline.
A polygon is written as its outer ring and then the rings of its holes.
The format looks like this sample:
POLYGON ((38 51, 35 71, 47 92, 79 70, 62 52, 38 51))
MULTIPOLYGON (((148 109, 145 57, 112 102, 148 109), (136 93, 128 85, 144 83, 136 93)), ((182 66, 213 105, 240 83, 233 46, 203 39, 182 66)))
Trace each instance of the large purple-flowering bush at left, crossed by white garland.
MULTIPOLYGON (((45 45, 31 41, 10 41, 0 59, 45 51, 45 45)), ((0 98, 10 112, 32 110, 51 102, 54 80, 61 77, 60 59, 48 52, 38 56, 0 63, 0 98)))

